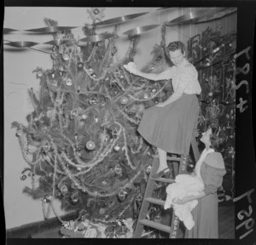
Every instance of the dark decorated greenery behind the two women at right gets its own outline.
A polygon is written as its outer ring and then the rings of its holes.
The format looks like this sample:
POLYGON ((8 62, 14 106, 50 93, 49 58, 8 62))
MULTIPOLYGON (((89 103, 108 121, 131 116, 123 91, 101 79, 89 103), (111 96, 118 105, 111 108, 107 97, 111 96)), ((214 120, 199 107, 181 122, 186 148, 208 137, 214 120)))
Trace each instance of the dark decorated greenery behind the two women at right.
POLYGON ((235 178, 235 129, 236 129, 236 33, 221 35, 221 26, 216 31, 207 27, 201 34, 189 38, 189 60, 199 71, 201 83, 201 111, 198 120, 200 132, 207 125, 221 128, 227 135, 222 152, 228 178, 226 199, 234 197, 235 178))

